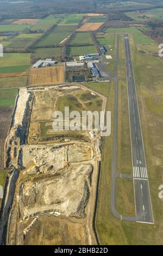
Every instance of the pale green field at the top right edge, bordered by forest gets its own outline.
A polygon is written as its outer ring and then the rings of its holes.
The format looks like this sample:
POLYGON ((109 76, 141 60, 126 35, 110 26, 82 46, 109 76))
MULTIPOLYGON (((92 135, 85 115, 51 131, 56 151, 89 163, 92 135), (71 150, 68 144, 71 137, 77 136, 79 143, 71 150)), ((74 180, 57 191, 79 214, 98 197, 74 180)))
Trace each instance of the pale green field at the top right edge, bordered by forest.
POLYGON ((131 17, 135 21, 150 21, 150 20, 162 20, 163 19, 163 9, 150 9, 145 10, 143 13, 136 13, 136 11, 130 11, 126 13, 127 16, 131 17), (143 16, 146 16, 147 19, 143 19, 143 16))

